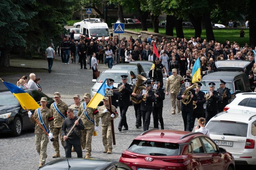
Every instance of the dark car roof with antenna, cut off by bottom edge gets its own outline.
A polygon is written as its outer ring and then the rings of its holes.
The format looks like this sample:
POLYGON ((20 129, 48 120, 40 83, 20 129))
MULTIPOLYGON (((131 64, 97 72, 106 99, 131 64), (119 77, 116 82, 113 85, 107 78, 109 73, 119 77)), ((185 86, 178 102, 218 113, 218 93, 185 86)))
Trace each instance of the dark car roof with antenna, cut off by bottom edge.
POLYGON ((60 158, 53 160, 40 170, 61 170, 61 169, 74 169, 74 170, 132 170, 129 166, 126 166, 117 161, 100 160, 100 159, 83 159, 83 158, 60 158))

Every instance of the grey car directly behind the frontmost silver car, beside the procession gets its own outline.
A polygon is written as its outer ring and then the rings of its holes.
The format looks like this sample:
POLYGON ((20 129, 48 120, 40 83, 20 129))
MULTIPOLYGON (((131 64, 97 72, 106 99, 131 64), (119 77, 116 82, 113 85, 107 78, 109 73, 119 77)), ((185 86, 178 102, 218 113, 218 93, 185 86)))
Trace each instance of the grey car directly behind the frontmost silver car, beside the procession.
POLYGON ((131 70, 135 75, 145 72, 140 63, 120 63, 115 64, 111 70, 131 70))

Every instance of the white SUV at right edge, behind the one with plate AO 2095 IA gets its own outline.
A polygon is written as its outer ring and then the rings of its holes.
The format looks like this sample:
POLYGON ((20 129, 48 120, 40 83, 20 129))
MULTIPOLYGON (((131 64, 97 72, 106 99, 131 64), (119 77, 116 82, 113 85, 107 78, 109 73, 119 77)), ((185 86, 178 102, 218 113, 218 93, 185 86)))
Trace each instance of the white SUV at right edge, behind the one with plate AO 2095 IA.
POLYGON ((223 111, 256 115, 256 92, 238 93, 223 111))

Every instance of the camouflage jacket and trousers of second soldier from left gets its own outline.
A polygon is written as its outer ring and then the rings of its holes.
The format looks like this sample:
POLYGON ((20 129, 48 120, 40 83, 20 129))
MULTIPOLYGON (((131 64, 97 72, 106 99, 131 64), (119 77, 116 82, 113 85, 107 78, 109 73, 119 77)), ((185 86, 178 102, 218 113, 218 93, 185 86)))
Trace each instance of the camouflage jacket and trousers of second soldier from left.
MULTIPOLYGON (((60 101, 60 103, 56 103, 57 108, 60 110, 60 112, 67 117, 67 110, 68 110, 68 105, 66 103, 64 103, 63 101, 60 101)), ((60 153, 60 144, 59 144, 59 135, 60 135, 60 141, 61 144, 64 148, 64 140, 63 137, 61 135, 61 126, 64 122, 65 119, 63 119, 58 112, 55 110, 53 103, 50 107, 50 110, 52 111, 53 117, 54 117, 54 128, 52 129, 52 134, 53 134, 53 138, 54 141, 52 142, 52 146, 54 148, 54 151, 56 153, 60 153)))

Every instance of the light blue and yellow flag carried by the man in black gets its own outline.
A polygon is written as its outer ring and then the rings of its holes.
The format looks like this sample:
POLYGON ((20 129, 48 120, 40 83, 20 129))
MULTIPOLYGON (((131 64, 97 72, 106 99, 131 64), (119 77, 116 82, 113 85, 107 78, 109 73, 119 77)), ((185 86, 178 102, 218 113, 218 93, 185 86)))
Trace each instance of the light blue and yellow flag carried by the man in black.
POLYGON ((110 88, 106 84, 107 78, 103 81, 97 93, 92 97, 91 101, 88 103, 87 107, 97 108, 100 101, 105 97, 105 88, 110 88))

